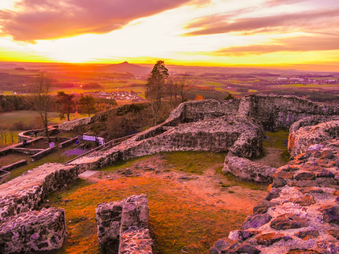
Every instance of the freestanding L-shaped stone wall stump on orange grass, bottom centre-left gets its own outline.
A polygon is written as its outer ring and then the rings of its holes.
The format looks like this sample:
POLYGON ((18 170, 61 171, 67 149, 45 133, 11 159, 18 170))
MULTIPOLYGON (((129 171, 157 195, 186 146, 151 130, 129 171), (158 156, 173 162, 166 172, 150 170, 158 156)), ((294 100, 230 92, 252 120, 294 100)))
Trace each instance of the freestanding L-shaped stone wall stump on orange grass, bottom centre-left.
POLYGON ((153 253, 145 194, 99 204, 95 211, 98 243, 106 253, 153 253))

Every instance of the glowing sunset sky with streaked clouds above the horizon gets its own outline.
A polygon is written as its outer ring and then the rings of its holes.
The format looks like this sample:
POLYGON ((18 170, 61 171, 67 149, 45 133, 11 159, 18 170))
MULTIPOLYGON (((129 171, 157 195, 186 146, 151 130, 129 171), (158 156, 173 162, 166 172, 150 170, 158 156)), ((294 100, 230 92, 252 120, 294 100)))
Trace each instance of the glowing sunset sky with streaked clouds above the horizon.
POLYGON ((0 61, 339 71, 339 0, 1 0, 0 61))

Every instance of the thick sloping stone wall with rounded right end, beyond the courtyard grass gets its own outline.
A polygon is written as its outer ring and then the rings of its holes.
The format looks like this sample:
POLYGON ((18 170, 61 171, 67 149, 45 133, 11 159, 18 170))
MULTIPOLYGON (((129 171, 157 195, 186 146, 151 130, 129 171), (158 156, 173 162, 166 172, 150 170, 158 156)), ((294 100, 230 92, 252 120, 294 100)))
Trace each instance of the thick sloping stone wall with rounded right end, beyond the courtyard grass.
POLYGON ((71 165, 78 165, 82 170, 98 169, 118 160, 165 151, 229 151, 234 156, 258 156, 263 137, 264 129, 257 120, 223 116, 173 128, 156 126, 108 151, 81 157, 71 162, 71 165), (156 131, 160 134, 153 137, 156 131), (143 139, 148 135, 150 137, 143 139))

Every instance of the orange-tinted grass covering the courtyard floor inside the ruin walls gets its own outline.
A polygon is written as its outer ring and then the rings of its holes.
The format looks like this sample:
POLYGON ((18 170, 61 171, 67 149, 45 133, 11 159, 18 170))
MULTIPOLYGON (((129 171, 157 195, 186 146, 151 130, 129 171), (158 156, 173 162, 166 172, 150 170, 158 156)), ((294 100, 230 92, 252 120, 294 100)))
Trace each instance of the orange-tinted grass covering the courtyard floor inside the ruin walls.
MULTIPOLYGON (((266 186, 258 186, 246 182, 238 182, 236 178, 221 174, 220 164, 225 154, 210 152, 166 152, 160 156, 165 164, 171 164, 171 170, 185 171, 187 174, 202 173, 208 166, 214 167, 221 177, 221 190, 234 185, 243 188, 265 190, 266 186), (198 162, 197 162, 198 160, 198 162), (196 164, 191 166, 190 164, 196 164), (248 184, 248 185, 247 185, 248 184), (223 186, 222 186, 223 185, 223 186)), ((102 170, 102 174, 117 172, 131 167, 134 163, 152 158, 149 155, 134 158, 127 162, 110 166, 102 170)), ((233 193, 232 190, 228 192, 233 193)), ((230 230, 240 227, 247 213, 242 210, 229 209, 227 206, 198 206, 201 197, 181 183, 171 179, 157 177, 121 177, 99 183, 79 180, 67 190, 51 194, 48 205, 64 208, 69 237, 63 248, 57 253, 101 253, 97 244, 97 226, 95 208, 98 203, 145 193, 149 200, 149 229, 152 232, 154 253, 209 253, 214 242, 228 234, 230 230), (62 200, 68 199, 65 203, 62 200), (71 221, 71 222, 69 222, 71 221)), ((232 195, 236 195, 232 194, 232 195)))

